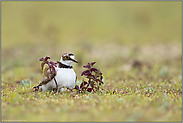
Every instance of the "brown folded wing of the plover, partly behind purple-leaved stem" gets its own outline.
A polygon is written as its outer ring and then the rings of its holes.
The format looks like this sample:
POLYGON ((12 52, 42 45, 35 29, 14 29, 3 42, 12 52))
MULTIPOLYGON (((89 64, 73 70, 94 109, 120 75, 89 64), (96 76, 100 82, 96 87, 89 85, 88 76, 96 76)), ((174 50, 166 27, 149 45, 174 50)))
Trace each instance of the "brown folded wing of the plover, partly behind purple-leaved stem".
POLYGON ((50 69, 45 68, 44 75, 43 75, 43 79, 42 79, 42 81, 41 81, 41 83, 39 85, 47 84, 49 81, 51 81, 56 76, 55 73, 52 73, 51 74, 51 79, 49 79, 49 74, 50 73, 51 73, 50 72, 50 69))

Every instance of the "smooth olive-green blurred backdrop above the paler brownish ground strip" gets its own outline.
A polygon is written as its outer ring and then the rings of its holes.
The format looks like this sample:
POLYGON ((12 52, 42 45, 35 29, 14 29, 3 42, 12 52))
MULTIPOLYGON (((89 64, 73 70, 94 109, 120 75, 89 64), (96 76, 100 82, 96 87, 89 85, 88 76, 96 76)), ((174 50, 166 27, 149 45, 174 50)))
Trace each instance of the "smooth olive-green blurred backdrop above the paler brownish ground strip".
POLYGON ((3 48, 172 41, 181 41, 181 2, 2 2, 3 48))

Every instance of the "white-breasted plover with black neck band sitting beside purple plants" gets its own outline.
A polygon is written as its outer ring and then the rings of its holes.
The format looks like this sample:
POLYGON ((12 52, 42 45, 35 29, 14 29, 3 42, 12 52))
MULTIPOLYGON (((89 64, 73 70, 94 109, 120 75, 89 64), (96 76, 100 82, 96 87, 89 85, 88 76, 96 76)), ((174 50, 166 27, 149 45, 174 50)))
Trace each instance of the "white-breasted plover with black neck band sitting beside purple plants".
POLYGON ((57 81, 59 92, 65 91, 67 90, 67 88, 73 88, 77 76, 72 67, 72 63, 73 62, 78 63, 74 58, 75 56, 72 53, 64 53, 61 56, 59 64, 57 65, 57 67, 55 67, 56 75, 55 74, 51 75, 51 80, 49 80, 44 75, 41 83, 38 86, 34 87, 35 90, 46 91, 56 89, 56 84, 53 79, 54 77, 57 81))

